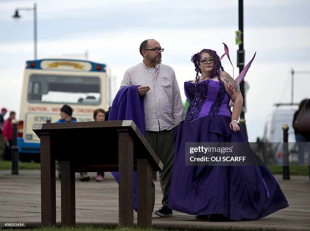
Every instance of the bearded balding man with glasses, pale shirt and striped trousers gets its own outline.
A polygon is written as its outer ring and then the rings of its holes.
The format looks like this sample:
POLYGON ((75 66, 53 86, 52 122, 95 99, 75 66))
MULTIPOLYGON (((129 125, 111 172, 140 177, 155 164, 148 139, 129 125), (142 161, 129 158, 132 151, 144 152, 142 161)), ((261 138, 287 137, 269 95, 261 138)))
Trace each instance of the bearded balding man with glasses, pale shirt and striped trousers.
MULTIPOLYGON (((159 172, 163 206, 155 214, 168 217, 172 216, 172 210, 168 208, 175 148, 172 134, 183 119, 183 105, 174 70, 162 64, 163 51, 156 40, 143 41, 140 45, 143 61, 126 70, 121 88, 140 85, 139 95, 144 96, 145 138, 164 165, 159 172)), ((155 185, 152 181, 152 211, 154 203, 155 185)))

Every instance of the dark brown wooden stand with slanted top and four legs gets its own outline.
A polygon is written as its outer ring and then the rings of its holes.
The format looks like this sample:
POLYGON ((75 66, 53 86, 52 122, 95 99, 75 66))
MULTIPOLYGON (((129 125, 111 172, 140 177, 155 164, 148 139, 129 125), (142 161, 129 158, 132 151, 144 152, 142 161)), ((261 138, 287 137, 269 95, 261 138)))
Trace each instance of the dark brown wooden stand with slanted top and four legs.
POLYGON ((55 159, 61 164, 61 224, 75 225, 75 173, 119 172, 119 224, 133 226, 133 172, 138 226, 152 225, 152 170, 162 162, 132 120, 34 124, 41 141, 41 222, 56 225, 55 159))

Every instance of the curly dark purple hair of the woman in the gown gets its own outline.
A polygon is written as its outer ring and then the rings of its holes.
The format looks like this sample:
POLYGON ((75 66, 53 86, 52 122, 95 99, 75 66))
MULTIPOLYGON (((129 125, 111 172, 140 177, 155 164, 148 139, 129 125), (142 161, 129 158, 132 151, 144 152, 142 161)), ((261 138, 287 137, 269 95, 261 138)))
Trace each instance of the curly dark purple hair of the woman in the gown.
POLYGON ((202 53, 204 53, 204 52, 209 53, 209 54, 212 56, 212 58, 215 59, 215 62, 214 62, 214 67, 215 67, 215 68, 213 68, 213 70, 211 71, 211 73, 210 73, 211 75, 210 75, 209 78, 210 78, 210 79, 213 79, 213 78, 215 78, 215 76, 218 76, 219 82, 222 83, 222 81, 221 81, 221 79, 220 79, 220 76, 219 76, 219 73, 220 73, 221 71, 224 71, 224 68, 223 68, 223 66, 222 66, 221 61, 219 61, 219 56, 216 54, 216 51, 211 50, 211 49, 203 49, 203 50, 201 50, 200 52, 198 52, 197 54, 194 54, 194 55, 192 56, 191 61, 194 63, 194 65, 195 65, 195 71, 197 72, 197 74, 196 74, 196 83, 199 82, 199 76, 198 76, 199 73, 202 74, 202 73, 201 73, 201 70, 200 70, 200 68, 199 68, 199 66, 198 66, 197 63, 200 62, 200 58, 201 58, 200 54, 202 54, 202 53))

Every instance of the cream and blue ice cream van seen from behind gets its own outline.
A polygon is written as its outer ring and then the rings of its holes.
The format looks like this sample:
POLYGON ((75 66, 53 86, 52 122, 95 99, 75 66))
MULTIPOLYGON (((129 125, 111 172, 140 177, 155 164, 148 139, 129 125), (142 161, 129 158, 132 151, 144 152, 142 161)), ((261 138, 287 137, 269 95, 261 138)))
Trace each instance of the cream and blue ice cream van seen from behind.
POLYGON ((21 160, 39 160, 40 139, 32 130, 34 123, 56 122, 64 104, 72 107, 77 122, 92 121, 95 109, 109 107, 108 86, 105 64, 73 59, 27 61, 17 138, 21 160))

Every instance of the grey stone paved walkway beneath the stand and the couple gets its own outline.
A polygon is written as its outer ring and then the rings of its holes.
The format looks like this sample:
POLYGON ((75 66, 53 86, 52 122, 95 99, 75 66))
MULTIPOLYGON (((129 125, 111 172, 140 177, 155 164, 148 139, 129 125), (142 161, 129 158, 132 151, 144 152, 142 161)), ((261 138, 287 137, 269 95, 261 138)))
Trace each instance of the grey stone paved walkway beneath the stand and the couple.
MULTIPOLYGON (((89 182, 80 182, 76 173, 76 222, 100 226, 118 225, 118 185, 110 173, 103 182, 95 182, 95 173, 89 182)), ((276 176, 289 207, 267 217, 254 221, 215 222, 197 220, 180 212, 173 217, 161 218, 153 214, 153 227, 192 230, 310 230, 310 183, 307 176, 291 176, 282 180, 276 176)), ((162 192, 159 181, 156 185, 155 210, 161 205, 162 192)), ((60 181, 56 180, 56 219, 60 223, 60 181)), ((134 213, 135 223, 137 213, 134 213)), ((41 224, 41 185, 40 171, 0 170, 0 222, 24 222, 28 227, 41 224)))

